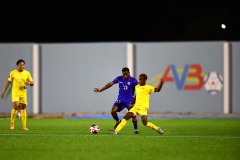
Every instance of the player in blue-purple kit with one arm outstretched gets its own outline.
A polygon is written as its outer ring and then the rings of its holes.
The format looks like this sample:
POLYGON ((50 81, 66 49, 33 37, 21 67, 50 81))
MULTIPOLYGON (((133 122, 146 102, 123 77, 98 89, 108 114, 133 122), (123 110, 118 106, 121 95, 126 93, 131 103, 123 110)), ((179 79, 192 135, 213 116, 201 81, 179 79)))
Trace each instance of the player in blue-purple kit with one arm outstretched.
MULTIPOLYGON (((120 120, 118 118, 117 112, 121 112, 124 108, 127 108, 127 110, 130 110, 130 102, 132 101, 134 97, 134 90, 135 86, 138 84, 138 81, 130 76, 129 68, 124 67, 122 69, 122 75, 116 77, 113 81, 107 83, 104 87, 101 89, 94 88, 94 92, 102 92, 110 87, 112 87, 114 84, 118 83, 119 85, 119 92, 118 92, 118 98, 115 101, 115 103, 112 106, 111 114, 113 119, 116 120, 116 124, 114 126, 114 129, 117 127, 117 125, 120 123, 120 120)), ((134 133, 138 134, 138 125, 137 125, 137 117, 132 117, 133 127, 134 127, 134 133)))

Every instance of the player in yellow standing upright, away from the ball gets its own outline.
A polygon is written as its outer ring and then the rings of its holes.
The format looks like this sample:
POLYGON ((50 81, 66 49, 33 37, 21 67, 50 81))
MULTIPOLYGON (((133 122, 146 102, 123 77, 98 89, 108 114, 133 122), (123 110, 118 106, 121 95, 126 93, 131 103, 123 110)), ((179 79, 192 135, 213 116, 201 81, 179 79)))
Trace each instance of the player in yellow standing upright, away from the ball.
POLYGON ((22 117, 22 130, 28 130, 26 126, 27 122, 27 85, 33 86, 33 79, 29 71, 24 69, 25 61, 23 59, 19 59, 17 61, 17 69, 12 70, 8 77, 8 81, 4 87, 1 98, 4 98, 5 92, 8 89, 10 83, 12 83, 12 103, 13 109, 11 111, 11 121, 10 121, 10 129, 14 129, 14 120, 16 114, 18 112, 18 108, 21 110, 22 117))

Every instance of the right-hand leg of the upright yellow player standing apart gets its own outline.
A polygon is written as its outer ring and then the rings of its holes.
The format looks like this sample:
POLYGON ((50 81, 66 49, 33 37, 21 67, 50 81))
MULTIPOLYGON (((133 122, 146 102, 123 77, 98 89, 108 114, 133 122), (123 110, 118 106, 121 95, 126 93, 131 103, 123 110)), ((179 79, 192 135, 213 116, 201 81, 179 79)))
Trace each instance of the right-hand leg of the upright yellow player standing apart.
POLYGON ((27 97, 21 97, 20 98, 20 109, 21 109, 21 115, 22 115, 22 130, 29 130, 27 128, 27 97))

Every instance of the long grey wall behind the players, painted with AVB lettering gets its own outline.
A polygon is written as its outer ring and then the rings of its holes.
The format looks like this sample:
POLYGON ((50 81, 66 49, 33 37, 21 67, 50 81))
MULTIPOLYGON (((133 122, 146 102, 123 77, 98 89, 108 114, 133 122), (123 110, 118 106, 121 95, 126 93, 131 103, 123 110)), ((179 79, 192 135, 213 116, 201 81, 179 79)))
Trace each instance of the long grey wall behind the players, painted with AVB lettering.
MULTIPOLYGON (((240 42, 228 43, 231 46, 229 112, 239 113, 240 42)), ((218 86, 218 92, 206 89, 205 85, 206 78, 214 75, 213 72, 223 80, 224 42, 132 42, 130 53, 128 44, 38 44, 39 83, 34 87, 39 87, 39 105, 34 110, 33 89, 28 87, 28 113, 110 113, 118 95, 118 85, 101 93, 94 93, 93 88, 103 87, 129 65, 131 75, 136 78, 146 73, 150 85, 156 86, 160 78, 165 79, 162 91, 151 96, 151 113, 224 112, 224 84, 218 86), (133 58, 130 63, 129 54, 133 58)), ((33 75, 34 54, 30 43, 0 44, 1 91, 18 59, 26 61, 25 68, 33 75)), ((11 108, 9 95, 0 101, 0 112, 9 113, 11 108)))

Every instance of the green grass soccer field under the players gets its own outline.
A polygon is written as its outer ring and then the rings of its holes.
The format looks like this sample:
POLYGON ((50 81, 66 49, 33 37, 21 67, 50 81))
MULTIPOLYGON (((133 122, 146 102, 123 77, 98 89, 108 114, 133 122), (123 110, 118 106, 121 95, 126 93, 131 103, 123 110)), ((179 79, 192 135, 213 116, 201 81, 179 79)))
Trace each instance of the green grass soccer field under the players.
POLYGON ((118 135, 112 119, 34 119, 29 131, 9 130, 10 119, 0 119, 1 160, 239 160, 239 118, 149 119, 164 135, 142 125, 135 135, 131 120, 118 135), (99 134, 89 127, 98 124, 99 134))

